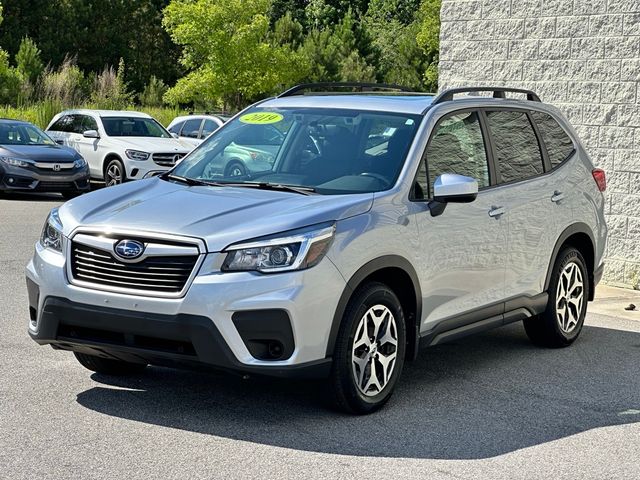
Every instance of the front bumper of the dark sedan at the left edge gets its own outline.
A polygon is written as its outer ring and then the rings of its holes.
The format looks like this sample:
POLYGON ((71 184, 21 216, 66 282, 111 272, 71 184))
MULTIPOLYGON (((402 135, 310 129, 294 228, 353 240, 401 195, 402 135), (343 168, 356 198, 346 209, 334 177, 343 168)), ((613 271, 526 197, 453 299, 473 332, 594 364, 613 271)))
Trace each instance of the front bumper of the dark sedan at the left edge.
POLYGON ((27 192, 87 192, 90 189, 88 167, 70 172, 42 172, 29 168, 0 167, 0 190, 27 192))

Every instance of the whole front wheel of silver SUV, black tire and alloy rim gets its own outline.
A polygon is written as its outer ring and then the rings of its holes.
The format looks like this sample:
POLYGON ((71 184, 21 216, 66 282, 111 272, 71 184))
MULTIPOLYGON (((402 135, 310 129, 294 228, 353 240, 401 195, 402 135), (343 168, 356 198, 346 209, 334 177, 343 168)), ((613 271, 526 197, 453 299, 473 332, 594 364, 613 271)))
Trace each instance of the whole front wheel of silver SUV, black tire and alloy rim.
POLYGON ((405 350, 405 320, 398 297, 378 282, 359 288, 345 310, 333 355, 331 383, 338 408, 367 414, 387 403, 402 372, 405 350), (371 344, 374 336, 377 340, 371 344))

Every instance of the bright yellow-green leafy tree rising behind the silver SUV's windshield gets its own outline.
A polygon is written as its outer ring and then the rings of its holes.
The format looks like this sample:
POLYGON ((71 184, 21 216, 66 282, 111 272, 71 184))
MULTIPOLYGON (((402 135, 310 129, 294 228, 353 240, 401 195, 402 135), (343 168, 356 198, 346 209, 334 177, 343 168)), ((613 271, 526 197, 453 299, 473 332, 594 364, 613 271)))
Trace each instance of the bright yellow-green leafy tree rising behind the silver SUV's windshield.
POLYGON ((269 0, 172 0, 163 23, 188 73, 165 100, 240 108, 301 78, 298 54, 269 42, 269 8, 269 0))

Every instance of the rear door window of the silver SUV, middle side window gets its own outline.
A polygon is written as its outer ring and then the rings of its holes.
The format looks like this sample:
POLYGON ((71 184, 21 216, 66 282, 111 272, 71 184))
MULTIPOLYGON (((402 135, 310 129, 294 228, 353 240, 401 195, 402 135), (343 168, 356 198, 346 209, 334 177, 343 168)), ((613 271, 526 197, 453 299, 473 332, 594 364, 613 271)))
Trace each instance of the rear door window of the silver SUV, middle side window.
POLYGON ((544 172, 538 139, 526 112, 487 112, 495 159, 503 183, 531 178, 544 172))

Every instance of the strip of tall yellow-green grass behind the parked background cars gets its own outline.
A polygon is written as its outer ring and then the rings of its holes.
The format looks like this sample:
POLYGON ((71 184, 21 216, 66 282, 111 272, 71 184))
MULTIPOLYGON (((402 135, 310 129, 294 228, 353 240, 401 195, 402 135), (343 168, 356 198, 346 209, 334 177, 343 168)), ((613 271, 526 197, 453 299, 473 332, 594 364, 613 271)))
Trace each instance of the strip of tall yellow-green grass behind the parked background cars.
MULTIPOLYGON (((97 109, 103 107, 95 103, 85 103, 74 108, 90 108, 97 109)), ((47 128, 51 119, 61 111, 65 110, 62 102, 58 100, 43 100, 31 105, 22 107, 11 107, 0 105, 0 118, 14 118, 16 120, 26 120, 42 129, 47 128)), ((187 112, 179 108, 163 108, 163 107, 135 107, 129 106, 125 110, 144 112, 158 120, 165 127, 169 122, 179 115, 185 115, 187 112)))

